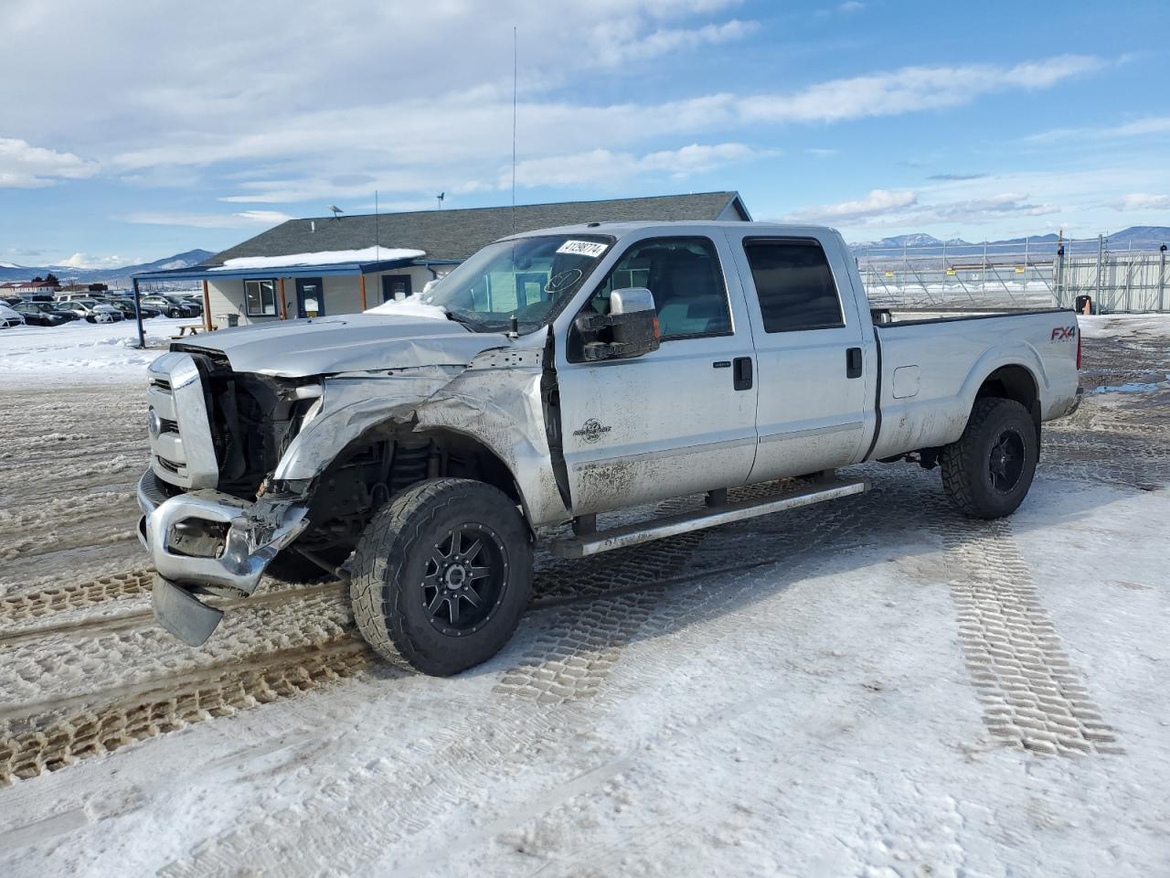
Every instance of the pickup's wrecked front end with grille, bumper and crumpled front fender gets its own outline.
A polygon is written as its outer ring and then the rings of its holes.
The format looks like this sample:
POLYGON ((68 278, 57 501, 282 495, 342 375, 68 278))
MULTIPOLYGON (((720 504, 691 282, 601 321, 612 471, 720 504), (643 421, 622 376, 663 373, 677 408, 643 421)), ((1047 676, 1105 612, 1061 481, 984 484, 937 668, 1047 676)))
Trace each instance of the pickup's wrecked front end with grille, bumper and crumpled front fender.
POLYGON ((223 616, 207 596, 248 597, 266 570, 302 575, 289 572, 298 562, 337 569, 377 509, 422 479, 494 485, 534 527, 565 520, 543 350, 480 336, 476 354, 460 342, 386 351, 406 366, 318 375, 240 372, 206 349, 159 357, 151 469, 138 486, 159 623, 202 644, 223 616))

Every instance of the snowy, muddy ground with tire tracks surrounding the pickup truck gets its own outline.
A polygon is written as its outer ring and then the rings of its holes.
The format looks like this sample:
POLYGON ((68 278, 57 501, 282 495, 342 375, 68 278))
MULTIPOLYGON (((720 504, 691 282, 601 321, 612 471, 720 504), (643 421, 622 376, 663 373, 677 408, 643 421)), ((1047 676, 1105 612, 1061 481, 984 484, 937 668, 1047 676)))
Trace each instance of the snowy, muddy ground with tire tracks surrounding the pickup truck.
POLYGON ((331 583, 170 638, 142 383, 0 380, 0 874, 1166 874, 1170 320, 1082 325, 1083 384, 1148 387, 1049 425, 1010 520, 874 466, 545 558, 448 680, 378 663, 331 583))

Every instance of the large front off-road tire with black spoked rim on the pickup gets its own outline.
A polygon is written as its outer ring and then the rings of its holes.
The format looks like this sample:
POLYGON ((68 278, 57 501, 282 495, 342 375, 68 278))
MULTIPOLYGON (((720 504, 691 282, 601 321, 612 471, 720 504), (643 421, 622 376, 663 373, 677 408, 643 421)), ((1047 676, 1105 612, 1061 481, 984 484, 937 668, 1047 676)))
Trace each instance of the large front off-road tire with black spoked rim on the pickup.
POLYGON ((366 642, 434 677, 487 661, 532 590, 532 549, 515 501, 467 479, 411 486, 366 527, 350 597, 366 642))

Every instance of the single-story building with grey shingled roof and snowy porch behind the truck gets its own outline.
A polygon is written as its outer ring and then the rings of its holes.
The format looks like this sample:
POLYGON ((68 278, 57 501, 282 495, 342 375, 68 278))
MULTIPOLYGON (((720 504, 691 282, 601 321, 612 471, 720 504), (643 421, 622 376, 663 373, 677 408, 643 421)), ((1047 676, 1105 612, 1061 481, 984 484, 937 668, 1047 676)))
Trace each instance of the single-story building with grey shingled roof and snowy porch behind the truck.
POLYGON ((592 221, 750 220, 737 192, 295 219, 205 263, 135 275, 199 281, 204 320, 241 324, 353 314, 421 290, 514 232, 592 221))

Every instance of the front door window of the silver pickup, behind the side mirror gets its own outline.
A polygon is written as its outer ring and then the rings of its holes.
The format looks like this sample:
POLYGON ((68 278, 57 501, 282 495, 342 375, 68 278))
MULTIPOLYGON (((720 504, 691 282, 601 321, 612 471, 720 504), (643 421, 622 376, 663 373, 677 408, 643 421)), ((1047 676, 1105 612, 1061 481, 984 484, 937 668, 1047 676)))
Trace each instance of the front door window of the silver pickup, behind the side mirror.
POLYGON ((610 294, 646 287, 654 296, 661 339, 731 334, 727 287, 707 238, 654 238, 639 241, 618 261, 586 308, 610 313, 610 294))

